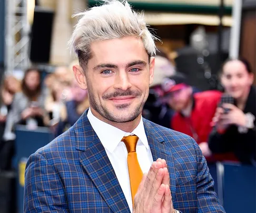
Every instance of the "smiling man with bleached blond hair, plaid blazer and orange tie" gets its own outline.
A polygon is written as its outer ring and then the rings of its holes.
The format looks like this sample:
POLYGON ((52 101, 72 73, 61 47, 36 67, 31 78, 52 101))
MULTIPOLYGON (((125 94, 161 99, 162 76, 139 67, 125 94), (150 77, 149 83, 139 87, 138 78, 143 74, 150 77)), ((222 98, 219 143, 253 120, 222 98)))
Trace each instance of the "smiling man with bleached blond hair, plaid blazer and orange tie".
POLYGON ((29 157, 24 212, 224 212, 194 140, 141 117, 155 54, 142 16, 119 1, 80 15, 70 43, 90 109, 29 157))

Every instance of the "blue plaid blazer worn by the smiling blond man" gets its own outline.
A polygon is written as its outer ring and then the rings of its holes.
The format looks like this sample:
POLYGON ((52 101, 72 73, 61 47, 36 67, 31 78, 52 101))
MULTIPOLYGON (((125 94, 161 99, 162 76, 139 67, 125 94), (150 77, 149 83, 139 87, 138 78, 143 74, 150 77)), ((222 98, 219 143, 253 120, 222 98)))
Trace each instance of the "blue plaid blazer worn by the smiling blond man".
MULTIPOLYGON (((195 141, 143 122, 153 159, 163 158, 168 164, 174 208, 183 213, 225 212, 195 141)), ((29 157, 24 212, 130 212, 87 111, 73 127, 29 157)))

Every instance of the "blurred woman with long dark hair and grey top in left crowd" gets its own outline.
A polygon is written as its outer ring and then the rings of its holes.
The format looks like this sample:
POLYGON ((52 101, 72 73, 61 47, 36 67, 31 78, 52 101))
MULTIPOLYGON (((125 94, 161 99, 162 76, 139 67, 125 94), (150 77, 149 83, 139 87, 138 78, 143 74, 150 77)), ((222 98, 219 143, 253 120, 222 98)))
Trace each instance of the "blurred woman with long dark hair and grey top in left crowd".
POLYGON ((41 82, 40 70, 29 68, 25 71, 21 92, 15 94, 11 110, 6 118, 4 146, 0 150, 0 169, 6 170, 11 167, 15 139, 13 128, 16 124, 27 125, 30 128, 47 126, 48 116, 43 108, 44 96, 41 82))

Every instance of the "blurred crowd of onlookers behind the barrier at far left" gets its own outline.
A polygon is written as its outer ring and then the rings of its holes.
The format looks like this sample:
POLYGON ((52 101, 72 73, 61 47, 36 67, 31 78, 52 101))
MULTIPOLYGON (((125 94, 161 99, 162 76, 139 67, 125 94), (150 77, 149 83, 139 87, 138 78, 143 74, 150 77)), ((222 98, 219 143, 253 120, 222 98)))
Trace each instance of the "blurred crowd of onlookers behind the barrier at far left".
POLYGON ((47 127, 58 136, 89 107, 87 91, 80 89, 74 79, 73 63, 45 75, 37 67, 28 68, 21 81, 13 75, 4 77, 0 98, 0 170, 12 169, 16 125, 25 125, 32 131, 47 127))

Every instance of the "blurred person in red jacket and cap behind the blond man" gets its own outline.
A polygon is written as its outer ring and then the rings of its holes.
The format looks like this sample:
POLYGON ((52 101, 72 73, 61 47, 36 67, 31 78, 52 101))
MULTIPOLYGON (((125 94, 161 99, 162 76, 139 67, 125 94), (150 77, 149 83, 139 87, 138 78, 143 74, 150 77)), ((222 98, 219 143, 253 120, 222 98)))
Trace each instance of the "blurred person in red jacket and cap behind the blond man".
POLYGON ((171 128, 193 137, 208 162, 215 161, 208 147, 208 137, 222 93, 216 90, 193 93, 183 75, 165 78, 162 88, 165 101, 176 111, 171 119, 171 128))

